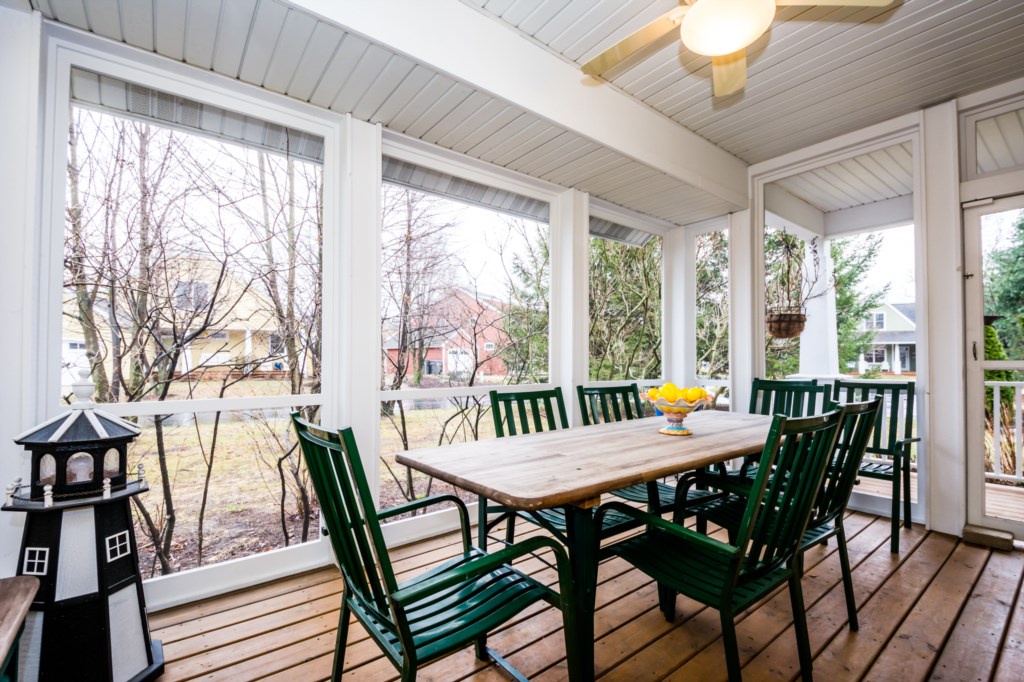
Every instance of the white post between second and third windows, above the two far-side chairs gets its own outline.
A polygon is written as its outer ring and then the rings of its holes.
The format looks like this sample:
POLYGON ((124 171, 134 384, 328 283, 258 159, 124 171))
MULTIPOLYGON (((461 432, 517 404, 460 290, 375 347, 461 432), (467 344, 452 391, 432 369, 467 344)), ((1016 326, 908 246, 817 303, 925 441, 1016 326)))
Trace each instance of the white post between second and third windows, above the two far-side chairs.
POLYGON ((551 203, 551 383, 562 387, 569 423, 580 425, 575 386, 590 373, 590 196, 551 203))

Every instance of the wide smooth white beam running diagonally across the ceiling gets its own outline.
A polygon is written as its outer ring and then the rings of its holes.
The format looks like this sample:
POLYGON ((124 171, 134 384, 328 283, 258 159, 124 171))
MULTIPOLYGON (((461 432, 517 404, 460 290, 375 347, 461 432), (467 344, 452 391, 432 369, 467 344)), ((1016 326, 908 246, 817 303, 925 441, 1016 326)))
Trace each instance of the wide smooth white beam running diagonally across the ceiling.
POLYGON ((291 0, 555 125, 745 209, 746 164, 459 0, 291 0))

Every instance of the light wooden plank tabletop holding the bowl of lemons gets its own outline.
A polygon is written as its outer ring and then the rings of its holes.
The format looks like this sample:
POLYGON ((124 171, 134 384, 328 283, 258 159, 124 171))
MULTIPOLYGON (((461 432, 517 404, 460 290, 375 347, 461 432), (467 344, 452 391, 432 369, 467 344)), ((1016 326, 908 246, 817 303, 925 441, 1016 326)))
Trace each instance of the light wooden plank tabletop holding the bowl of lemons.
POLYGON ((598 424, 515 438, 414 450, 399 464, 517 509, 542 509, 758 453, 770 417, 698 412, 693 435, 672 438, 655 420, 598 424))

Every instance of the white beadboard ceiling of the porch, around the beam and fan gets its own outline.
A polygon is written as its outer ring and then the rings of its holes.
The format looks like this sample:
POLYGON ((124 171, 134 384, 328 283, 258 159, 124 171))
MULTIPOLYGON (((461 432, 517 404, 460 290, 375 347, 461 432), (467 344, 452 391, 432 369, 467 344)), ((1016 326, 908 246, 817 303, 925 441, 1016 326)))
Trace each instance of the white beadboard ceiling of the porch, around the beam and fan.
MULTIPOLYGON (((473 7, 525 37, 523 50, 547 50, 577 65, 677 4, 462 1, 457 6, 473 7)), ((372 7, 367 11, 378 6, 390 11, 384 2, 360 4, 372 7)), ((48 19, 350 112, 675 224, 735 209, 720 195, 610 148, 593 134, 556 125, 282 0, 32 0, 32 6, 48 19)), ((678 42, 600 87, 635 98, 742 161, 757 163, 1022 77, 1022 46, 1021 0, 790 6, 779 8, 771 31, 748 50, 749 82, 741 93, 713 99, 709 59, 686 52, 678 42)), ((822 211, 881 201, 912 186, 895 168, 909 167, 904 152, 895 153, 899 158, 820 169, 793 178, 786 189, 822 211)))

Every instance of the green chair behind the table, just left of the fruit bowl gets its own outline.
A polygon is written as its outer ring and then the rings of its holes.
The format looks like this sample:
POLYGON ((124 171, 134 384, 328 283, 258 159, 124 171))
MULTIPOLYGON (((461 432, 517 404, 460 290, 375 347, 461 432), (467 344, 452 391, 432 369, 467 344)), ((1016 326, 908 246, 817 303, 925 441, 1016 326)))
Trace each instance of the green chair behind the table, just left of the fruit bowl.
MULTIPOLYGON (((593 388, 577 386, 577 396, 580 398, 584 426, 643 417, 643 403, 640 402, 640 389, 636 383, 593 388)), ((672 511, 676 507, 676 486, 660 481, 636 483, 612 491, 611 495, 630 502, 646 504, 648 510, 655 514, 672 511)), ((689 500, 697 500, 707 495, 702 491, 691 489, 689 500)))

